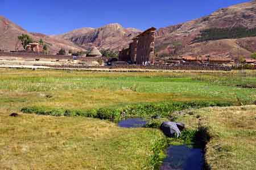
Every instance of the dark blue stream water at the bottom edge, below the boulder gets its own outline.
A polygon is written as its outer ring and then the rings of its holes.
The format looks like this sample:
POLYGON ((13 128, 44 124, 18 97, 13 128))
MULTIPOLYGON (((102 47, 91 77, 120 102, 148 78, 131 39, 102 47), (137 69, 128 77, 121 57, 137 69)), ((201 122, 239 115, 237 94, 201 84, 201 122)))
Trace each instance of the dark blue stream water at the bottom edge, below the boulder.
POLYGON ((201 149, 187 146, 170 146, 168 157, 163 161, 160 170, 201 170, 204 155, 201 149))

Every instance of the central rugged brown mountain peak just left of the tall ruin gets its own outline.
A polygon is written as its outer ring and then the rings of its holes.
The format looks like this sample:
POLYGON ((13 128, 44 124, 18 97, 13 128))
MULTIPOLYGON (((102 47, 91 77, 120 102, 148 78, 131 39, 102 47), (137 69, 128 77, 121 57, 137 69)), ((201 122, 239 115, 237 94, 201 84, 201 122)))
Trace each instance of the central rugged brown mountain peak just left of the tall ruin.
POLYGON ((81 28, 53 37, 69 40, 85 49, 96 46, 118 50, 127 47, 128 42, 141 32, 136 28, 123 28, 118 23, 112 23, 100 28, 81 28))

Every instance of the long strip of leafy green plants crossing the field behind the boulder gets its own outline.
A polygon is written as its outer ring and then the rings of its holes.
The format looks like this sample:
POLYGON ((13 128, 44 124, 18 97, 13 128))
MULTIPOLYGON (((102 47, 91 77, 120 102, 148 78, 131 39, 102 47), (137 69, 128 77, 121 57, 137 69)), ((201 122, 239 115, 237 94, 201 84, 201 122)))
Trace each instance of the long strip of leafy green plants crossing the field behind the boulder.
MULTIPOLYGON (((176 117, 172 114, 174 111, 180 111, 191 108, 212 107, 212 106, 232 106, 230 102, 213 101, 190 101, 190 102, 171 102, 171 103, 150 103, 141 105, 131 105, 123 109, 92 109, 92 110, 67 110, 52 109, 47 107, 24 107, 23 113, 35 113, 53 116, 81 116, 89 118, 108 119, 110 121, 119 121, 123 118, 141 117, 151 119, 155 115, 174 121, 176 117)), ((151 122, 151 127, 158 126, 158 122, 151 122)))

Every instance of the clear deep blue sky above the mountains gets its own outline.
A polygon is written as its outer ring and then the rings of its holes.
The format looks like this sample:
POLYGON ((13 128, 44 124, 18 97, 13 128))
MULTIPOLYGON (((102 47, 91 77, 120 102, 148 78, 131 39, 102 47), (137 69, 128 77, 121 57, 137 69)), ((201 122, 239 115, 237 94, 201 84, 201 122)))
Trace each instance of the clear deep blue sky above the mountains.
POLYGON ((245 0, 0 0, 0 15, 30 32, 62 34, 120 23, 145 30, 200 18, 245 0))

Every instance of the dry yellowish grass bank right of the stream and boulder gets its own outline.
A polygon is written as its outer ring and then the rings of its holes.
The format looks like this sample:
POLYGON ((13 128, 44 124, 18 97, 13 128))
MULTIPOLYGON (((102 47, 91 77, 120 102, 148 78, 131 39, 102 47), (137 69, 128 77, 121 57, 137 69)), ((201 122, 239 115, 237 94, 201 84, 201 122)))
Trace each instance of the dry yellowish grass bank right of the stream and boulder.
POLYGON ((208 127, 206 161, 212 169, 255 169, 256 106, 199 109, 179 121, 208 127))

